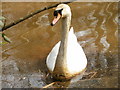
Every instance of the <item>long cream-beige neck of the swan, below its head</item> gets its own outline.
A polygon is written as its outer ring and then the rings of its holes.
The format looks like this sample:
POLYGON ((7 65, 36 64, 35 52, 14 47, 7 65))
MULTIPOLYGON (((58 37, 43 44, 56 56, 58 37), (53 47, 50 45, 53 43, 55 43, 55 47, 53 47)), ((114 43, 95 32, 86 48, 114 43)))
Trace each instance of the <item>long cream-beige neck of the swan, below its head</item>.
POLYGON ((67 70, 67 42, 71 24, 71 16, 62 19, 61 44, 55 64, 54 73, 66 74, 67 70))

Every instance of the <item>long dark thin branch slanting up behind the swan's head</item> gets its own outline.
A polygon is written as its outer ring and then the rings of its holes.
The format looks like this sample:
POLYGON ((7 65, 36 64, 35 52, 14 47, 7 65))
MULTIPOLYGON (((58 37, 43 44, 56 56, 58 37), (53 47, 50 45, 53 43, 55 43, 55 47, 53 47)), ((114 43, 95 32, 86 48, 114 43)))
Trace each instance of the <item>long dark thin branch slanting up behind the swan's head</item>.
MULTIPOLYGON (((71 2, 73 2, 73 1, 76 1, 76 0, 70 0, 69 2, 61 2, 61 3, 68 4, 68 3, 71 3, 71 2)), ((18 23, 20 23, 20 22, 22 22, 22 21, 24 21, 24 20, 26 20, 26 19, 28 19, 28 18, 30 18, 30 17, 32 17, 32 16, 34 16, 34 15, 42 12, 42 11, 45 11, 45 10, 54 8, 54 7, 56 7, 57 5, 59 5, 59 4, 61 4, 61 3, 57 3, 57 4, 52 5, 52 6, 44 7, 44 8, 39 9, 39 10, 33 12, 33 13, 30 13, 29 15, 27 15, 27 16, 25 16, 25 17, 23 17, 23 18, 20 18, 19 20, 14 21, 14 22, 12 22, 12 23, 4 26, 4 27, 2 28, 2 31, 7 30, 8 28, 10 28, 10 27, 12 27, 12 26, 14 26, 14 25, 16 25, 16 24, 18 24, 18 23)))

